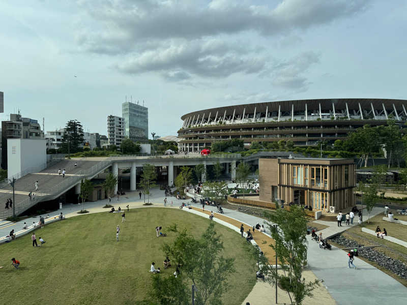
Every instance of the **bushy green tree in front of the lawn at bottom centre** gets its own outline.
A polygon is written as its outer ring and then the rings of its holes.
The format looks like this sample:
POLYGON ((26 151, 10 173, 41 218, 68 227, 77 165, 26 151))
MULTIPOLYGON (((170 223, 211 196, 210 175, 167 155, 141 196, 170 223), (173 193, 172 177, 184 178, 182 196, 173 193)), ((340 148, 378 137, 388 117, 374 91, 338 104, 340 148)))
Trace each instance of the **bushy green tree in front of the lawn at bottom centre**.
POLYGON ((235 272, 235 268, 234 259, 222 255, 223 242, 214 223, 209 222, 208 228, 199 238, 190 235, 186 229, 179 231, 176 225, 168 230, 177 236, 161 249, 165 255, 182 265, 185 279, 183 285, 195 285, 195 304, 221 305, 220 298, 227 291, 227 279, 235 272))

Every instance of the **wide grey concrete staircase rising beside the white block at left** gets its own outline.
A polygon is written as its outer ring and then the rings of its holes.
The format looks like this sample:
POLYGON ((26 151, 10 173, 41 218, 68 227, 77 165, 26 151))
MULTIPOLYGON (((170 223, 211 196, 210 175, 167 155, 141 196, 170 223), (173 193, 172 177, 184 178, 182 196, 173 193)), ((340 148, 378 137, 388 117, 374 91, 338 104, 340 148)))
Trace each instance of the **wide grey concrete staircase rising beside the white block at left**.
MULTIPOLYGON (((42 170, 39 173, 27 174, 15 181, 15 214, 19 215, 38 202, 52 200, 75 186, 83 178, 92 178, 105 168, 110 161, 75 161, 63 160, 42 170), (77 166, 74 166, 77 162, 77 166), (65 178, 57 174, 65 168, 65 178), (35 182, 38 181, 38 191, 35 182), (32 199, 28 193, 33 192, 32 199)), ((0 220, 13 216, 13 209, 5 209, 7 199, 13 199, 13 188, 10 185, 0 186, 0 220)))

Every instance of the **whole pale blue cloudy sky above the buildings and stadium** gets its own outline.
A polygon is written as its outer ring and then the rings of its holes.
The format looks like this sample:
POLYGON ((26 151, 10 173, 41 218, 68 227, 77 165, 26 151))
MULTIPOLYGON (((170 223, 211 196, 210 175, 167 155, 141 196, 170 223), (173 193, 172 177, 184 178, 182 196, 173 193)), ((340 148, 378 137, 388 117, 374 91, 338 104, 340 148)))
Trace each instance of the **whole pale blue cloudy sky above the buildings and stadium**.
POLYGON ((78 119, 106 134, 127 96, 167 136, 212 107, 407 99, 406 11, 403 0, 3 0, 0 118, 19 109, 46 131, 78 119))

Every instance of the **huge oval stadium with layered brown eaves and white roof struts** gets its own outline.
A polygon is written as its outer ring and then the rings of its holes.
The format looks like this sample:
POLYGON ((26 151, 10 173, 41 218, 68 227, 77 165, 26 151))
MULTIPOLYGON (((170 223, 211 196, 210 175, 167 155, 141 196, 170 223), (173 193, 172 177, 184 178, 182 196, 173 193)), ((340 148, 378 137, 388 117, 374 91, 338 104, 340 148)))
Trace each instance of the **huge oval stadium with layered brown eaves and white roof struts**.
POLYGON ((225 106, 184 114, 178 131, 179 150, 199 151, 214 141, 292 140, 295 145, 332 143, 363 125, 405 123, 407 100, 317 99, 225 106))

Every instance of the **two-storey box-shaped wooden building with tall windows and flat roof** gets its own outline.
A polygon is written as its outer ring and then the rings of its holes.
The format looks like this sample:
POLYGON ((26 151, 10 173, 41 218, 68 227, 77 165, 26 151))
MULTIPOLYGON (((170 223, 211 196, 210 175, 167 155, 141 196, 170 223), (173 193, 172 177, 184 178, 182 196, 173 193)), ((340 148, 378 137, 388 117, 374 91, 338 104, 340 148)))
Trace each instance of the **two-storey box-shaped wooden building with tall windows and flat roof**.
POLYGON ((355 205, 353 159, 259 159, 258 167, 260 200, 331 212, 355 205))

